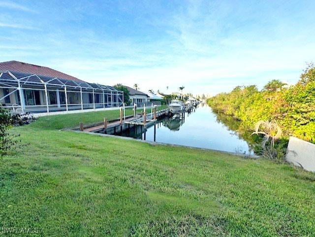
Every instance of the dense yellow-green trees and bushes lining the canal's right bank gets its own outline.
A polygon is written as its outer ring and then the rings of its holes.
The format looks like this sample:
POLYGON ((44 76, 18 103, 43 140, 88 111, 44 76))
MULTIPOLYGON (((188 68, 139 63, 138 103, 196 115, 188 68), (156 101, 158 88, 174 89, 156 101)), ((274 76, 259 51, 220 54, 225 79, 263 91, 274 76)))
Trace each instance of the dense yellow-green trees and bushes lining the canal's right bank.
POLYGON ((272 80, 260 91, 256 85, 237 86, 207 102, 215 112, 239 119, 241 129, 253 130, 257 121, 275 120, 284 137, 293 135, 315 143, 314 64, 307 66, 295 85, 272 80))

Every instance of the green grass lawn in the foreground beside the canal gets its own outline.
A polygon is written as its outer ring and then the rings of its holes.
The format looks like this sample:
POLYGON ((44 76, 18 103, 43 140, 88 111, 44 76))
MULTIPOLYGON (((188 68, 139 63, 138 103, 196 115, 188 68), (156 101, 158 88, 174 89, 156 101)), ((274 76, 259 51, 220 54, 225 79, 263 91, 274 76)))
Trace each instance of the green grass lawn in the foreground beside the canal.
POLYGON ((315 236, 315 174, 267 160, 59 131, 118 111, 14 128, 0 162, 3 228, 47 237, 315 236))

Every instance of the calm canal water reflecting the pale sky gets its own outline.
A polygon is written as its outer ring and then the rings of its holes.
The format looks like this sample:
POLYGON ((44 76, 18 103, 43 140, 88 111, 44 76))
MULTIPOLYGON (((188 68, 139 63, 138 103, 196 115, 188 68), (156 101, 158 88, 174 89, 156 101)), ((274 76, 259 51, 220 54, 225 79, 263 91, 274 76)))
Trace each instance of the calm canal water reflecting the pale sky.
MULTIPOLYGON (((234 119, 233 119, 234 120, 234 119)), ((194 111, 159 119, 156 125, 137 126, 122 134, 148 141, 208 148, 214 150, 253 154, 249 144, 225 125, 207 104, 199 104, 194 111)), ((229 120, 231 123, 231 120, 229 120)), ((238 123, 237 120, 232 123, 238 123)), ((233 127, 233 126, 232 126, 233 127)), ((237 126, 236 126, 237 127, 237 126)))

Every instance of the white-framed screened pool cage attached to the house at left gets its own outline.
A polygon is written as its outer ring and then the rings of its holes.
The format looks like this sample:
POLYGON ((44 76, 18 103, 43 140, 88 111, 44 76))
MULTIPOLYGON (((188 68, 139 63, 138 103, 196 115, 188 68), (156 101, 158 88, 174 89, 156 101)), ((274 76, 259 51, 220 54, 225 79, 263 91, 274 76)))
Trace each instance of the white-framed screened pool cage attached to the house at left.
POLYGON ((111 86, 16 71, 0 71, 0 105, 18 113, 122 106, 124 93, 111 86))

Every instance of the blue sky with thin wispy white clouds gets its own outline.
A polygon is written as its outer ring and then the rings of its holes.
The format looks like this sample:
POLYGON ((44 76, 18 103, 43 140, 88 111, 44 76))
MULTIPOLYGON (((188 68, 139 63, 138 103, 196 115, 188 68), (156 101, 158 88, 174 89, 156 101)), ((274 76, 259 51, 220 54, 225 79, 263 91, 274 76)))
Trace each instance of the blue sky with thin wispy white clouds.
POLYGON ((0 12, 0 62, 141 91, 293 84, 315 62, 315 0, 0 0, 0 12))

